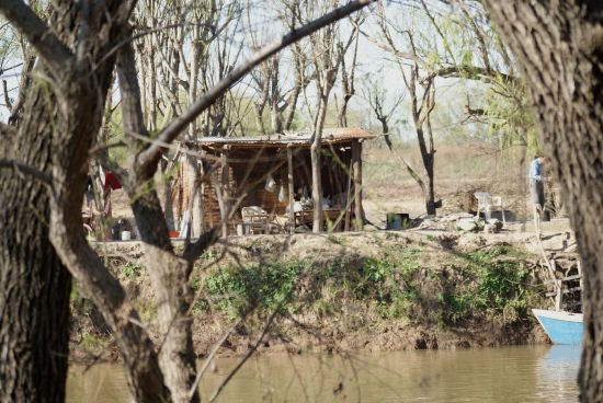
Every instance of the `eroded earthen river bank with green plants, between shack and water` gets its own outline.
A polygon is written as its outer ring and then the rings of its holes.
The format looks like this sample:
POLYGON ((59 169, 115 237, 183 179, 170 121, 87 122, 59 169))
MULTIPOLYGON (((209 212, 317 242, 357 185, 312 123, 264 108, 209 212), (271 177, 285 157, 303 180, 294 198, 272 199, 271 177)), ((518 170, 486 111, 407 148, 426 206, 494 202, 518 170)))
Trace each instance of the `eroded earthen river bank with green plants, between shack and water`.
MULTIPOLYGON (((226 332, 220 356, 255 345, 260 353, 304 353, 547 343, 530 313, 549 304, 530 245, 530 234, 445 231, 229 238, 207 251, 192 277, 195 352, 206 356, 226 332)), ((140 244, 96 247, 159 339, 140 244)), ((71 300, 75 359, 117 358, 77 287, 71 300)))

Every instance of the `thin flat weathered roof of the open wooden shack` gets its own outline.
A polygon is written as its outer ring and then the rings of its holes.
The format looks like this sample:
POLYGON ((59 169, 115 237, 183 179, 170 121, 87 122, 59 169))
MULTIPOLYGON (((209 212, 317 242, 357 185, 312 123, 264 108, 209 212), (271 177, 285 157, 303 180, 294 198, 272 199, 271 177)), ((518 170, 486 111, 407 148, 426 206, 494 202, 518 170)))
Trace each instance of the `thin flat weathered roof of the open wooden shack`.
MULTIPOLYGON (((311 131, 283 133, 271 136, 257 137, 202 137, 194 141, 201 147, 218 148, 230 146, 232 148, 261 148, 261 147, 309 147, 311 145, 311 131)), ((334 128, 322 131, 325 145, 350 142, 355 139, 372 139, 375 135, 360 128, 334 128)))

